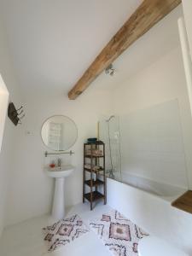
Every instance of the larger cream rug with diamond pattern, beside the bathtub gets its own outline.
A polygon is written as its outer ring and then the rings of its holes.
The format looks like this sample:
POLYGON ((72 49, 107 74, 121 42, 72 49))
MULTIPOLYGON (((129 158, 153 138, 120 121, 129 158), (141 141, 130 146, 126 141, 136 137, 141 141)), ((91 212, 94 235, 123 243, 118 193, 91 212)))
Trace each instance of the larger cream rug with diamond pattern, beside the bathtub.
POLYGON ((148 234, 113 210, 101 218, 90 221, 91 229, 115 256, 136 256, 138 241, 148 234))

